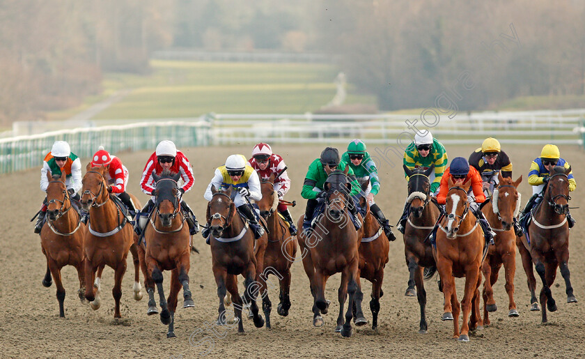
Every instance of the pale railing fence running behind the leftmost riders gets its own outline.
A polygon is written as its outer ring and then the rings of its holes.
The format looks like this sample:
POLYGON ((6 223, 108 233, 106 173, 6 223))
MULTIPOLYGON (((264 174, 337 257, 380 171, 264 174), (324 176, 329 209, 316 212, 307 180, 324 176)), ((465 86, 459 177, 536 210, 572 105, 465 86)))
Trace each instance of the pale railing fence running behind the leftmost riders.
POLYGON ((0 139, 0 174, 40 167, 43 158, 58 140, 68 142, 72 152, 79 157, 89 158, 99 146, 104 146, 111 153, 153 150, 162 139, 172 139, 179 147, 208 146, 211 140, 210 123, 134 123, 0 139))

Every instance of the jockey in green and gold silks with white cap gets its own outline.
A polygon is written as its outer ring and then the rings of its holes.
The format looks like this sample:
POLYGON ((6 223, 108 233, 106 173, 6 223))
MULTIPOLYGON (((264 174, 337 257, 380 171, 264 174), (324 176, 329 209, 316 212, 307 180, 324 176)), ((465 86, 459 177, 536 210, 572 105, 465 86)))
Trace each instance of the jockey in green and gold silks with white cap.
MULTIPOLYGON (((409 169, 428 169, 430 165, 435 164, 435 173, 430 174, 428 179, 430 181, 430 195, 436 194, 439 190, 443 172, 447 166, 447 151, 441 142, 432 137, 428 130, 416 132, 414 135, 414 142, 409 144, 404 152, 403 163, 409 169)), ((405 172, 405 178, 408 181, 408 175, 405 172)), ((404 228, 410 209, 410 203, 407 201, 404 204, 403 214, 398 220, 398 231, 404 234, 404 228)))

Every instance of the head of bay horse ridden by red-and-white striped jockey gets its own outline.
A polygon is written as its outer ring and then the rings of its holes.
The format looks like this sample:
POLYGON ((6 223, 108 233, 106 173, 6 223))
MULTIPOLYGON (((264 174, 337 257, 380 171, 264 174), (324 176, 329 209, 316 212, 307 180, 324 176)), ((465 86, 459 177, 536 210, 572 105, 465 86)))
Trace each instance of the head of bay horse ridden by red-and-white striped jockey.
POLYGON ((155 180, 155 196, 157 215, 162 227, 171 227, 173 219, 179 213, 179 181, 180 174, 164 169, 160 176, 153 172, 155 180))

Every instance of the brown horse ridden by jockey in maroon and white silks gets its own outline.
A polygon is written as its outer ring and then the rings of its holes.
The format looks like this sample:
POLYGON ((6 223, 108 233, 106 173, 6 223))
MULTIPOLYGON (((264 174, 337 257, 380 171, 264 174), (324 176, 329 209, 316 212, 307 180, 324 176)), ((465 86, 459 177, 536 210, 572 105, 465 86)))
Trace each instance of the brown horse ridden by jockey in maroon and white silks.
MULTIPOLYGON (((263 280, 273 274, 279 278, 280 303, 276 312, 281 316, 288 316, 290 309, 290 267, 297 257, 297 237, 290 236, 288 223, 283 220, 276 207, 279 206, 279 196, 274 190, 274 175, 263 179, 260 183, 262 199, 256 201, 260 208, 260 215, 266 220, 268 227, 267 247, 264 253, 263 280)), ((265 289, 268 289, 267 287, 265 289)), ((266 317, 266 328, 270 328, 270 312, 272 303, 268 291, 263 293, 262 309, 266 317)))

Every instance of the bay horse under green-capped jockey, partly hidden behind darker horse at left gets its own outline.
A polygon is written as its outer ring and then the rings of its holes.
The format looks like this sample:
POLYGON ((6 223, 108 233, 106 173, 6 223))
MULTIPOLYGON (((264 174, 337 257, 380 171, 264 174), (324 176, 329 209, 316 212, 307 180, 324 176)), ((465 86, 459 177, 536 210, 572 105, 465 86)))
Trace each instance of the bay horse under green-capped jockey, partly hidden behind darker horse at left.
POLYGON ((384 234, 384 229, 370 212, 368 201, 364 197, 359 197, 359 205, 366 211, 364 235, 360 238, 361 243, 359 244, 359 276, 372 282, 370 310, 372 311, 372 329, 375 330, 378 312, 380 312, 380 297, 384 295, 382 282, 384 281, 384 268, 388 263, 390 243, 384 234))

